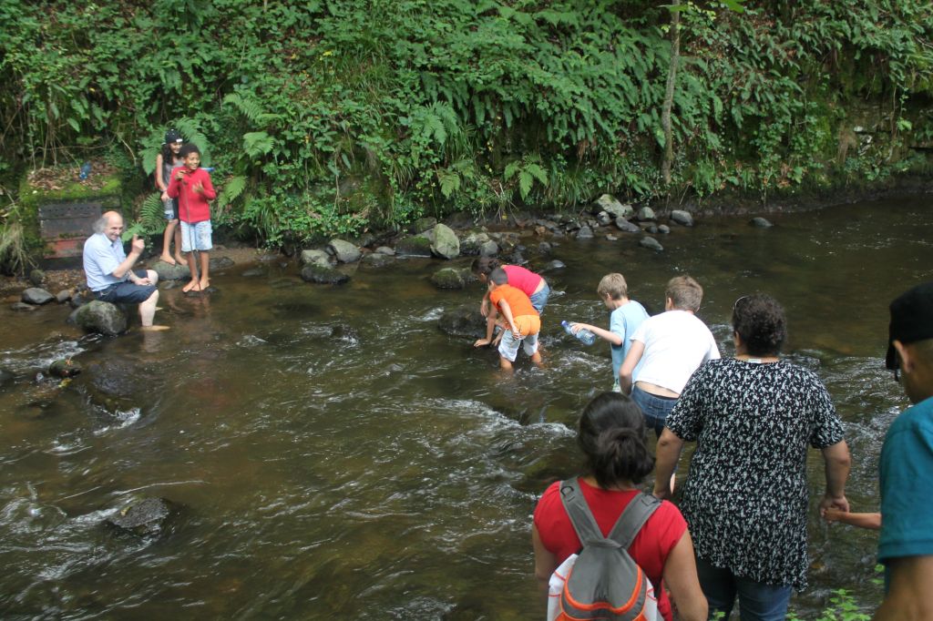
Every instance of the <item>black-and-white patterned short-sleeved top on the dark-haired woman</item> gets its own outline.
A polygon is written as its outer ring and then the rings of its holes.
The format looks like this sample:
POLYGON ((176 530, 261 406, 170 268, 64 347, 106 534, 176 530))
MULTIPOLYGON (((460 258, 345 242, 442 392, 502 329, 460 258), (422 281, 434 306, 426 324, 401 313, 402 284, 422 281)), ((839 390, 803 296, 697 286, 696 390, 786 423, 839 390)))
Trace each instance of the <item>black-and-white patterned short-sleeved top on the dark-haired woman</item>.
POLYGON ((807 447, 842 441, 816 374, 783 361, 711 360, 666 425, 697 442, 680 504, 697 556, 756 582, 804 588, 807 447))

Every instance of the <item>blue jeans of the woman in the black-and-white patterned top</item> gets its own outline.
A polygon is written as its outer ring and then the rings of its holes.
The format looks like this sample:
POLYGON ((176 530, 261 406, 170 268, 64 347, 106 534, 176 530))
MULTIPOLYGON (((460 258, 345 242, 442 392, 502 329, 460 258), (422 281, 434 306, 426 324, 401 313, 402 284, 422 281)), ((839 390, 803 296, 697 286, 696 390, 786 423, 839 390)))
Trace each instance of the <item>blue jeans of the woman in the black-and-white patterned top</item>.
POLYGON ((755 582, 720 569, 697 557, 697 575, 709 603, 709 616, 722 612, 728 619, 735 597, 739 598, 742 621, 784 621, 790 603, 791 587, 755 582))

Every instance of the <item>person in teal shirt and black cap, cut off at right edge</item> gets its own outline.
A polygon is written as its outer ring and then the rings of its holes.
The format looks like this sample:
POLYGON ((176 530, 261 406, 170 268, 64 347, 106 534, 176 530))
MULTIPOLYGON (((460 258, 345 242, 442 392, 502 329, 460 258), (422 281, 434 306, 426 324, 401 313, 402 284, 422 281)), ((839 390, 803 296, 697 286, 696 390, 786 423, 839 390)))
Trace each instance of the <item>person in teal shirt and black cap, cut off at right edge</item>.
POLYGON ((891 303, 885 364, 913 404, 881 451, 881 538, 886 592, 878 621, 933 619, 933 282, 891 303))

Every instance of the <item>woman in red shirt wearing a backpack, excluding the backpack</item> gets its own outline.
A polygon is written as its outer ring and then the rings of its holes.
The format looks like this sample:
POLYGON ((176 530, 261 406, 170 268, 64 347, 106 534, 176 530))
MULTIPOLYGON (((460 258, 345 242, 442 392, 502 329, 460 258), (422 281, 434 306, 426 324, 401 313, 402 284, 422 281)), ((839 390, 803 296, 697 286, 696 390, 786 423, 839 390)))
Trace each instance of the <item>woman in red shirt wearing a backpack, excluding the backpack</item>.
MULTIPOLYGON (((600 531, 607 536, 625 507, 641 493, 635 486, 654 467, 654 458, 645 446, 641 410, 624 394, 600 394, 580 416, 577 442, 586 473, 579 476, 579 487, 600 531)), ((550 574, 581 547, 561 503, 559 487, 557 482, 544 492, 532 527, 535 576, 545 591, 550 574)), ((687 522, 674 504, 661 503, 635 536, 629 554, 655 586, 658 612, 665 621, 673 618, 665 586, 674 598, 679 619, 705 621, 706 598, 697 579, 693 542, 687 522)))

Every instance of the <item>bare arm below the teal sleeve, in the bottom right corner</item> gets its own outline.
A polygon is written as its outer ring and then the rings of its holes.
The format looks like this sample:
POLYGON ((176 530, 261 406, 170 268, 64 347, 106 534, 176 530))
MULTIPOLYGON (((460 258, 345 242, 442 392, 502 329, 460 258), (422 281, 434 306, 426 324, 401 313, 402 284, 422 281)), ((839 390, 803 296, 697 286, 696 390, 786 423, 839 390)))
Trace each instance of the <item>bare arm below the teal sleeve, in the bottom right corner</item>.
POLYGON ((933 556, 887 560, 890 588, 873 621, 933 619, 933 556))

